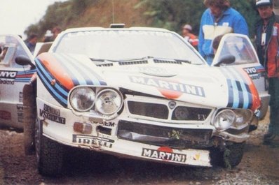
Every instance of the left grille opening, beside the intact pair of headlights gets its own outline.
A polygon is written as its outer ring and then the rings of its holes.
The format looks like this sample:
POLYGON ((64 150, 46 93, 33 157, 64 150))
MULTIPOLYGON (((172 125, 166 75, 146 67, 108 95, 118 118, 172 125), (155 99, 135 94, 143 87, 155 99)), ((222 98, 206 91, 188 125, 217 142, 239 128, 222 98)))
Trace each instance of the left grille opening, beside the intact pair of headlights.
POLYGON ((168 107, 166 105, 128 101, 128 108, 131 114, 168 119, 168 107))

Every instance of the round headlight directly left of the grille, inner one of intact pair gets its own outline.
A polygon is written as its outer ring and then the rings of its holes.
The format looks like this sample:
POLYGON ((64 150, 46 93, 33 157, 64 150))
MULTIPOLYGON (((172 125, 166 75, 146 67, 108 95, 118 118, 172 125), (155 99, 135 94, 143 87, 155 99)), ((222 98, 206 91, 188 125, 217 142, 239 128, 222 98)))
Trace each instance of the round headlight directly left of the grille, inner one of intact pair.
POLYGON ((122 96, 113 89, 104 89, 97 94, 95 108, 105 115, 115 114, 121 109, 122 96))

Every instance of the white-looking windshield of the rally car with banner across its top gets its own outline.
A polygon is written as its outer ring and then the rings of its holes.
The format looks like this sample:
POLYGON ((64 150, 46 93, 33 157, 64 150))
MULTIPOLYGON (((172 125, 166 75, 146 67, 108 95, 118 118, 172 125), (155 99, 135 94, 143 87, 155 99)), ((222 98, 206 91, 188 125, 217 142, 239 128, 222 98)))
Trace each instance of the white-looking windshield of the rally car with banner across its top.
POLYGON ((55 52, 113 61, 154 57, 204 64, 181 38, 163 31, 79 31, 62 36, 55 52))

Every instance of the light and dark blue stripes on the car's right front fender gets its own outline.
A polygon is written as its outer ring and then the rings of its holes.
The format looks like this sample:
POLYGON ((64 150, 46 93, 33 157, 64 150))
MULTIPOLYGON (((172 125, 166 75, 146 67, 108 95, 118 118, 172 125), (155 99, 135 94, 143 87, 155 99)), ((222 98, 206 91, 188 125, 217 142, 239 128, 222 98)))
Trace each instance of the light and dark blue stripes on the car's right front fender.
POLYGON ((251 108, 252 94, 249 86, 243 82, 243 75, 233 68, 222 68, 229 89, 229 108, 251 108))

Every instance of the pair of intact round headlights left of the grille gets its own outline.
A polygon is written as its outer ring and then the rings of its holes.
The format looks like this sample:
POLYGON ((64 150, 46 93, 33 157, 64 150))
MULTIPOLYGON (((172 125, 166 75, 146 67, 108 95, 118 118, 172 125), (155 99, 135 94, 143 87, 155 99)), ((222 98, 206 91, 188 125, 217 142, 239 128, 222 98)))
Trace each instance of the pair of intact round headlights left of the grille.
POLYGON ((104 115, 118 112, 123 104, 121 94, 114 89, 103 89, 97 95, 89 87, 79 87, 69 97, 72 108, 78 112, 86 112, 93 108, 104 115))

